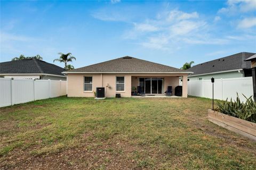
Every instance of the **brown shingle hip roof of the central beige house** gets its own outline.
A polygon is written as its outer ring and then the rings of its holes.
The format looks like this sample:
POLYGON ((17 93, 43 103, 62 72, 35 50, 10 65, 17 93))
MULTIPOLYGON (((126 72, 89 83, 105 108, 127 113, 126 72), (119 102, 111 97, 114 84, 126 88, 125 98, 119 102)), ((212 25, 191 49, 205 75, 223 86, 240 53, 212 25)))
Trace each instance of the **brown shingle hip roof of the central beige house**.
POLYGON ((79 69, 70 70, 67 73, 72 72, 86 72, 86 73, 145 73, 145 72, 187 72, 186 70, 177 69, 167 65, 157 64, 138 58, 125 56, 109 60, 106 62, 93 64, 79 69))

